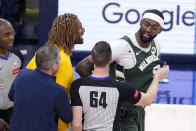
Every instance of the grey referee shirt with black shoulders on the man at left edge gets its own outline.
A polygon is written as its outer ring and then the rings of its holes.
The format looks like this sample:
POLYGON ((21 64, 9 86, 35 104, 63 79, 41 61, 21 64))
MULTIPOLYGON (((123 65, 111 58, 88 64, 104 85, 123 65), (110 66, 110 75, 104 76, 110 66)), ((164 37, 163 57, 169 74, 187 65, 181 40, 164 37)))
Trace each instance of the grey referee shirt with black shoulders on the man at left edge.
POLYGON ((8 98, 12 82, 20 71, 24 58, 19 49, 12 48, 7 57, 0 56, 0 110, 9 109, 13 102, 8 98))

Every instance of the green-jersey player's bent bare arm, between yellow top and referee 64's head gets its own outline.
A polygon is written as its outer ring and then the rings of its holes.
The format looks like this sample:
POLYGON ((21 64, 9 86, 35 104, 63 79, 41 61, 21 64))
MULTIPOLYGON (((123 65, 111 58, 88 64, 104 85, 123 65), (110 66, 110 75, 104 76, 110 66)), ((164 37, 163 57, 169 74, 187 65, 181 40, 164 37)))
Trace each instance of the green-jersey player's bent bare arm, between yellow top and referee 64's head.
POLYGON ((93 63, 90 62, 89 56, 84 58, 76 65, 76 72, 80 75, 80 77, 89 76, 92 74, 92 70, 94 69, 93 63))

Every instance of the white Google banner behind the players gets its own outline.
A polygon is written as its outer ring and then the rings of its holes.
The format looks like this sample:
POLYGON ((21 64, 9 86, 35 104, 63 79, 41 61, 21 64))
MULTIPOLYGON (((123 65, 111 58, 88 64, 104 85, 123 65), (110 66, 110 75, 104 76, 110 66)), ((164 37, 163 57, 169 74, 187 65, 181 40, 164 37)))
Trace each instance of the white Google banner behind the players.
POLYGON ((194 54, 195 0, 59 0, 58 15, 74 13, 85 28, 84 44, 75 50, 90 51, 98 41, 112 41, 139 29, 143 12, 158 9, 165 17, 156 37, 161 53, 194 54))

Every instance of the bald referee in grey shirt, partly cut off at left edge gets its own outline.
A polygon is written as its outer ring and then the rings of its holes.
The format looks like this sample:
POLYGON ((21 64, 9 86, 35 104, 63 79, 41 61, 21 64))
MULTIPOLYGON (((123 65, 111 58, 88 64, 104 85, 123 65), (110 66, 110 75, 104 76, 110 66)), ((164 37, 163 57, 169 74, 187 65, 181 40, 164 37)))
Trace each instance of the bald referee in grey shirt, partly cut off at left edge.
MULTIPOLYGON (((13 102, 8 92, 19 73, 24 58, 19 49, 13 48, 15 31, 12 24, 0 18, 0 125, 10 123, 13 102)), ((6 125, 7 127, 7 125, 6 125)))

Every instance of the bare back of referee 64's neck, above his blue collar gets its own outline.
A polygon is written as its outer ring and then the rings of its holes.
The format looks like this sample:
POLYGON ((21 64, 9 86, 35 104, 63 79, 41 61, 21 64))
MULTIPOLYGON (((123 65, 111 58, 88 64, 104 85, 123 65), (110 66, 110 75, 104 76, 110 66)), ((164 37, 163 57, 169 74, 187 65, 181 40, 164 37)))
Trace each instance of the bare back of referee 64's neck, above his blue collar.
POLYGON ((92 76, 93 77, 107 77, 107 76, 109 76, 109 68, 95 67, 92 76))

